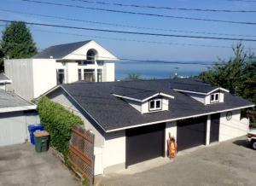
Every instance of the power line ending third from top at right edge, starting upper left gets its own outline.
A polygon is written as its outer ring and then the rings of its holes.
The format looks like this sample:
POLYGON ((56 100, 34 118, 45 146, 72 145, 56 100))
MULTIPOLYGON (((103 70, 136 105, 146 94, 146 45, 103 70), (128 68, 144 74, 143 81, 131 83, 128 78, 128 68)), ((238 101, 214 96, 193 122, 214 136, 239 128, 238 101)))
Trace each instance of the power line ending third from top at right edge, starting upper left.
POLYGON ((230 23, 230 24, 253 25, 253 26, 256 25, 256 22, 244 22, 244 21, 234 21, 234 20, 212 20, 212 19, 195 18, 195 17, 175 16, 175 15, 157 15, 157 14, 151 14, 151 13, 132 12, 132 11, 116 10, 116 9, 100 9, 100 8, 85 7, 85 6, 72 5, 72 4, 49 3, 49 2, 42 2, 42 1, 35 1, 35 0, 20 0, 20 1, 24 1, 27 3, 41 3, 41 4, 49 4, 49 5, 55 5, 55 6, 64 6, 69 8, 72 7, 72 8, 78 8, 78 9, 99 10, 99 11, 129 14, 129 15, 146 15, 146 16, 164 17, 164 18, 181 19, 181 20, 201 20, 201 21, 212 21, 212 22, 221 22, 221 23, 230 23))

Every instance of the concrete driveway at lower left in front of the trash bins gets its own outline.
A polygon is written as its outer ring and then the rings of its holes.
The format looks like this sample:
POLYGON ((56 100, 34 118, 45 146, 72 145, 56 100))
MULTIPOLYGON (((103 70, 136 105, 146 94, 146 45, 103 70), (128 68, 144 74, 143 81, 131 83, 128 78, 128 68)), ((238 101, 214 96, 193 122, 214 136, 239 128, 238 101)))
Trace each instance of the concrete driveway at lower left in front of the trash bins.
POLYGON ((0 148, 0 186, 79 185, 72 172, 50 152, 38 154, 30 144, 0 148))

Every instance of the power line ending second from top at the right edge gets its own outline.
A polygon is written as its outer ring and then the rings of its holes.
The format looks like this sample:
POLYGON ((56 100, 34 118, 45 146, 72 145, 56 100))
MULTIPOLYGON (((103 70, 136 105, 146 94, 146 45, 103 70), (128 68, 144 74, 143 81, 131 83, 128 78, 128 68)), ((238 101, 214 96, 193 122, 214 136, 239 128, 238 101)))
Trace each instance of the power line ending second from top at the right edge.
POLYGON ((172 7, 157 7, 139 4, 124 4, 124 3, 106 3, 99 1, 86 0, 71 0, 83 3, 96 3, 101 5, 112 5, 119 7, 143 8, 143 9, 167 9, 167 10, 182 10, 182 11, 200 11, 200 12, 223 12, 223 13, 256 13, 256 10, 230 10, 230 9, 188 9, 188 8, 172 8, 172 7))

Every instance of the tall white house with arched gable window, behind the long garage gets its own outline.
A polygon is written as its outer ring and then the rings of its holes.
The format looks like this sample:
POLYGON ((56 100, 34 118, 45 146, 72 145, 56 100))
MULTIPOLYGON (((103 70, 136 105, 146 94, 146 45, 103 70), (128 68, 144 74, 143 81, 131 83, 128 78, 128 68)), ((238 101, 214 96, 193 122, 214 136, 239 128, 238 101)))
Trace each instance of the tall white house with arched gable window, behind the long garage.
POLYGON ((31 100, 57 84, 114 81, 114 61, 116 56, 90 40, 51 46, 31 59, 5 60, 4 68, 13 80, 9 90, 31 100))

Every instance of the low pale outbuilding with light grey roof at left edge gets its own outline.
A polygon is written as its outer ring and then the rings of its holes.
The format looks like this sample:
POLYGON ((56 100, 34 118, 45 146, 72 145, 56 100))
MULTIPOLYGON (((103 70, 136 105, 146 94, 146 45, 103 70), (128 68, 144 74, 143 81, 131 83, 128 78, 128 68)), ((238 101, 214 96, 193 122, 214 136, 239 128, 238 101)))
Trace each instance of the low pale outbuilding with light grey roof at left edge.
POLYGON ((27 125, 39 123, 36 105, 0 90, 0 147, 26 142, 27 125))

